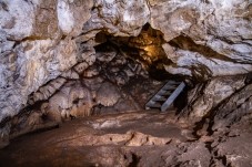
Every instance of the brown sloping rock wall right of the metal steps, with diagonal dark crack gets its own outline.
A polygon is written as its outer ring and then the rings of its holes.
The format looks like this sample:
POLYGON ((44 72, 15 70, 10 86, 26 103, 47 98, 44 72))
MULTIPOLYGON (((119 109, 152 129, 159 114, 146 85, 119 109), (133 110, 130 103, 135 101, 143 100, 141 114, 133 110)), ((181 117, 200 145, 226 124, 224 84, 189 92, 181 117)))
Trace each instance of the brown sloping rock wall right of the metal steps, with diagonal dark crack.
MULTIPOLYGON (((199 140, 211 143, 211 150, 216 152, 216 157, 221 157, 225 166, 243 166, 242 161, 246 159, 236 157, 235 154, 225 156, 222 150, 230 149, 229 145, 239 139, 244 140, 244 135, 251 131, 251 73, 214 77, 189 92, 188 105, 179 114, 178 121, 195 125, 199 140)), ((250 145, 246 142, 243 144, 250 145)), ((242 148, 234 149, 240 154, 242 148)), ((214 164, 219 166, 218 161, 214 164)))

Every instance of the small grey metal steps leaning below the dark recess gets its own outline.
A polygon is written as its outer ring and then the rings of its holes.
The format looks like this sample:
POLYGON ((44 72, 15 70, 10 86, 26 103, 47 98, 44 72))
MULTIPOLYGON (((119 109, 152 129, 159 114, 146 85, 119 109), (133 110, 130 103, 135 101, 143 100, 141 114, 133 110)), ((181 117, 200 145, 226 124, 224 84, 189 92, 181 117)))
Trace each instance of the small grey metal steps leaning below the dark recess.
POLYGON ((184 82, 170 80, 147 104, 145 109, 160 108, 164 112, 185 87, 184 82))

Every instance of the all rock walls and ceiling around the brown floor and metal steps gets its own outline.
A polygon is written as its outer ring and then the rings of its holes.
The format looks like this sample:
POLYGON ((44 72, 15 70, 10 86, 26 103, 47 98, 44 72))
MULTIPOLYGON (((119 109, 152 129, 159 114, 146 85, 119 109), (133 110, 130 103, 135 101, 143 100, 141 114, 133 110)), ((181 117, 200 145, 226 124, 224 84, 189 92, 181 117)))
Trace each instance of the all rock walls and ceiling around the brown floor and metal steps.
POLYGON ((212 166, 235 166, 240 155, 212 137, 250 132, 251 14, 250 0, 0 0, 0 148, 69 119, 141 111, 174 75, 190 85, 175 119, 195 126, 212 166))

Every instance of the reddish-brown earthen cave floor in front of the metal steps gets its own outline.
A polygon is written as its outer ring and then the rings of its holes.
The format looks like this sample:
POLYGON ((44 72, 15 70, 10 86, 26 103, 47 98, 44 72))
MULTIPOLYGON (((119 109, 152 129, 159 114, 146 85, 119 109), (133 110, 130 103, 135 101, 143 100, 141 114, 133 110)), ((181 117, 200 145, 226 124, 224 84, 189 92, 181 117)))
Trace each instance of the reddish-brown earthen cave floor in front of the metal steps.
POLYGON ((0 166, 252 166, 251 125, 200 137, 175 121, 175 109, 75 118, 12 139, 0 166))

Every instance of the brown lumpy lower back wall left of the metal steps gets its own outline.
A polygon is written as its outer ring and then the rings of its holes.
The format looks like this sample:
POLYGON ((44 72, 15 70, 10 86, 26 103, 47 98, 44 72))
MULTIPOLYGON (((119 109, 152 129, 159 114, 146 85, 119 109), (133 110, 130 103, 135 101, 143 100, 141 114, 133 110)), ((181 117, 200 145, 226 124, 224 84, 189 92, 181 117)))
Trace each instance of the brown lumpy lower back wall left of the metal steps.
MULTIPOLYGON (((95 46, 95 62, 81 62, 28 96, 26 107, 0 124, 0 147, 21 135, 85 116, 138 112, 165 84, 152 79, 111 42, 95 46)), ((159 75, 168 76, 165 71, 159 75)))

